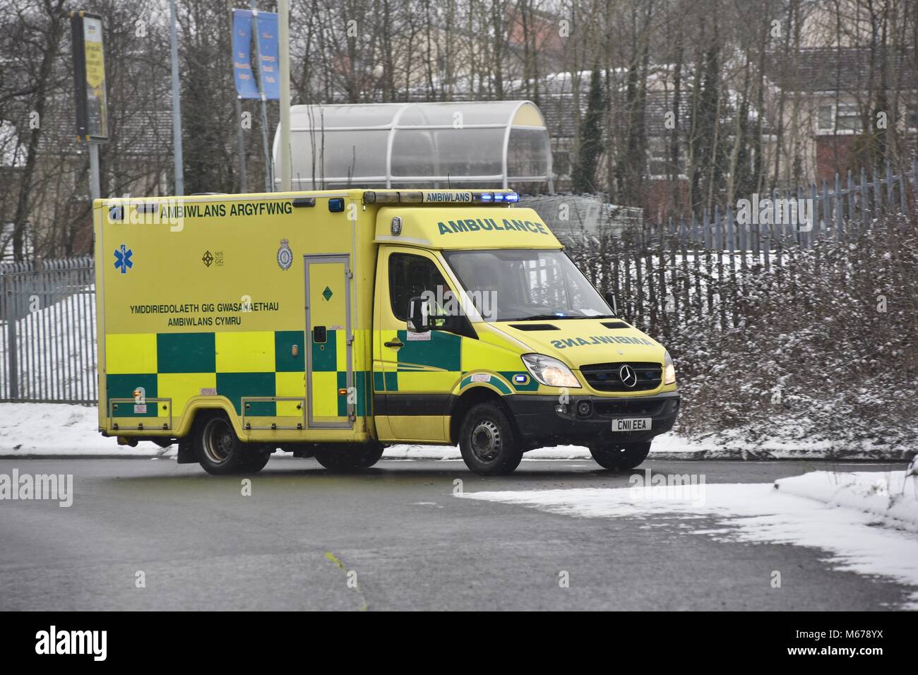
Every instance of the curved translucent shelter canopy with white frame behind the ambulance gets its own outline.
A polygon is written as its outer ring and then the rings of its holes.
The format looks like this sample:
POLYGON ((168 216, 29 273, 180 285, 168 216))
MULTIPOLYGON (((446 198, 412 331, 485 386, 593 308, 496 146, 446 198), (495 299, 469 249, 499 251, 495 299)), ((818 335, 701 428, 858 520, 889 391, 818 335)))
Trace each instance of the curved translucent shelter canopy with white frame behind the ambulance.
POLYGON ((297 190, 554 188, 548 130, 530 101, 294 106, 290 145, 297 190))

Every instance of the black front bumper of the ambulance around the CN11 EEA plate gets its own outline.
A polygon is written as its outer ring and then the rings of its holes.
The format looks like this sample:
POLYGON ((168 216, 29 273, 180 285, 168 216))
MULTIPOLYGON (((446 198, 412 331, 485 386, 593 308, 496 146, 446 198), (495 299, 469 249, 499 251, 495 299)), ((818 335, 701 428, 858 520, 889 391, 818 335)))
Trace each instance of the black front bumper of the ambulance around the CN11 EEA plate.
POLYGON ((677 391, 653 396, 616 398, 610 396, 570 396, 565 404, 556 396, 512 394, 503 397, 516 421, 527 450, 546 445, 601 445, 644 443, 673 428, 681 397, 677 391), (588 414, 580 414, 580 403, 588 414), (564 405, 565 411, 555 410, 564 405), (649 431, 613 432, 612 420, 651 418, 649 431))

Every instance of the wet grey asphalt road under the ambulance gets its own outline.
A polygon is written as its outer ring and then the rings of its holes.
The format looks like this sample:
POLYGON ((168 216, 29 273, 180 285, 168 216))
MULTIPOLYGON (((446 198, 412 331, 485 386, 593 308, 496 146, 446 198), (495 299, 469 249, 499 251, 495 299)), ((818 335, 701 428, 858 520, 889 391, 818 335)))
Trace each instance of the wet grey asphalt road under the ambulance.
MULTIPOLYGON (((708 483, 901 468, 644 467, 708 483)), ((168 459, 0 458, 0 473, 14 468, 73 474, 74 499, 0 501, 0 610, 884 610, 908 591, 833 569, 815 549, 715 541, 677 519, 573 518, 452 496, 455 478, 466 492, 629 487, 630 473, 588 461, 524 460, 512 476, 479 478, 458 461, 384 459, 336 476, 277 458, 251 496, 241 478, 168 459), (780 589, 769 584, 775 569, 780 589)))

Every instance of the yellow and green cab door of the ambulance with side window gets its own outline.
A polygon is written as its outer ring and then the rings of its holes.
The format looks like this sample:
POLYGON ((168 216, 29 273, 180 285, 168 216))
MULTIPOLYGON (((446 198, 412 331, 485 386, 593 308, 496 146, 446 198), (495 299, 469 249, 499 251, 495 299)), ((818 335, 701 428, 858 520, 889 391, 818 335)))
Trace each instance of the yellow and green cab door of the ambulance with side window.
POLYGON ((459 333, 467 321, 451 317, 420 333, 409 332, 407 324, 411 298, 425 291, 450 298, 454 289, 433 254, 386 246, 378 258, 376 291, 374 369, 382 371, 374 374, 377 433, 381 440, 447 441, 449 397, 462 378, 462 343, 468 339, 459 333))

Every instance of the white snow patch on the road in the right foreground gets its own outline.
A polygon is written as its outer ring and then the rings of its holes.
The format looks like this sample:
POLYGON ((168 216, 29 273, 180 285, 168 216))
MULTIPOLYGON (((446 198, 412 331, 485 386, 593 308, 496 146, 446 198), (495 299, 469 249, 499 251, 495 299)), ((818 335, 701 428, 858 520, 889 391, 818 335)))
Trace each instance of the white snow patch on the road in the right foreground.
POLYGON ((821 549, 837 569, 879 575, 915 587, 906 607, 918 610, 918 478, 905 478, 904 471, 815 471, 782 478, 774 485, 708 485, 703 476, 695 477, 700 479, 694 484, 680 485, 666 477, 666 485, 653 481, 648 485, 646 478, 634 474, 631 488, 508 490, 458 496, 583 518, 677 518, 689 527, 693 520, 713 518, 716 529, 697 528, 692 533, 718 541, 821 549), (896 497, 891 505, 890 497, 896 497))

